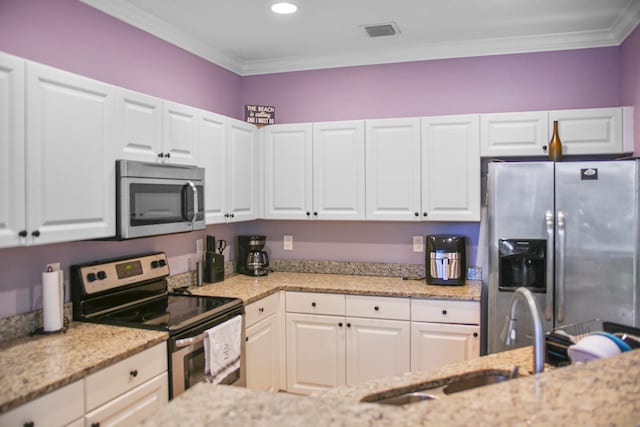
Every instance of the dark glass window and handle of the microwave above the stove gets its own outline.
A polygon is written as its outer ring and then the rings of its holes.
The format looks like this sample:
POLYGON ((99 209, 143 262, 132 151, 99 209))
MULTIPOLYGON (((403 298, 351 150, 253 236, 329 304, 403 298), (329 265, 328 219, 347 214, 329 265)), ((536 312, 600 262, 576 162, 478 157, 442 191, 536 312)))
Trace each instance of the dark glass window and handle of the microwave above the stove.
MULTIPOLYGON (((198 215, 204 218, 203 187, 198 189, 198 215)), ((129 187, 132 226, 183 222, 193 216, 193 193, 180 184, 131 184, 129 187)))

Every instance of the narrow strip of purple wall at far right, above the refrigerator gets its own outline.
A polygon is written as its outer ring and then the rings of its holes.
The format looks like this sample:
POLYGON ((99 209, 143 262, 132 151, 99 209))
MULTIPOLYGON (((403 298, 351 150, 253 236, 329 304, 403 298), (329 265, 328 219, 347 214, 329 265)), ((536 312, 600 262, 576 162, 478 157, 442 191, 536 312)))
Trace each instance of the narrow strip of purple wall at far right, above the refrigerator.
POLYGON ((640 155, 640 26, 620 46, 620 102, 635 106, 634 154, 640 155))

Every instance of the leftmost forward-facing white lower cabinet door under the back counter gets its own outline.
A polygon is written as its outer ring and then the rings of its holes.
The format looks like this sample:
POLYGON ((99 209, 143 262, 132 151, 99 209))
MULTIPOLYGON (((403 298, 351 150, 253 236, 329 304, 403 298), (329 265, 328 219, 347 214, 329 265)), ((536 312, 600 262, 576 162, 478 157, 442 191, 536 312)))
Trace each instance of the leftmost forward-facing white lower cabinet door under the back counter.
POLYGON ((310 394, 345 383, 344 317, 286 315, 287 391, 310 394))

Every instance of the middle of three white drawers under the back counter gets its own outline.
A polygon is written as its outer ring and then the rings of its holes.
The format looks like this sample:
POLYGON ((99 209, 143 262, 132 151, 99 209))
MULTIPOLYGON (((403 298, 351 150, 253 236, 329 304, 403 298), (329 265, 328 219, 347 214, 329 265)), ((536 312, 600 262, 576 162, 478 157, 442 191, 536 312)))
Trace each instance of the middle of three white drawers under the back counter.
POLYGON ((372 319, 410 319, 411 305, 409 298, 347 295, 346 302, 347 316, 372 319))

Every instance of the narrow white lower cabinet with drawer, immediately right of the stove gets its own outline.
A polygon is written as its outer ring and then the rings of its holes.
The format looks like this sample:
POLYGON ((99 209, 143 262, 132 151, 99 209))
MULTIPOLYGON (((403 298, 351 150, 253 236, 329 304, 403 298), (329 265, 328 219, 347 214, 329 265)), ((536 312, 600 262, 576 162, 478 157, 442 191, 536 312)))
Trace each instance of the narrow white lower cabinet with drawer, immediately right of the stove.
POLYGON ((279 391, 284 358, 280 293, 245 307, 245 377, 247 388, 279 391))

